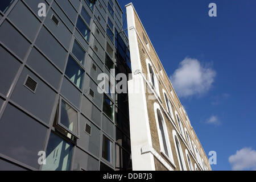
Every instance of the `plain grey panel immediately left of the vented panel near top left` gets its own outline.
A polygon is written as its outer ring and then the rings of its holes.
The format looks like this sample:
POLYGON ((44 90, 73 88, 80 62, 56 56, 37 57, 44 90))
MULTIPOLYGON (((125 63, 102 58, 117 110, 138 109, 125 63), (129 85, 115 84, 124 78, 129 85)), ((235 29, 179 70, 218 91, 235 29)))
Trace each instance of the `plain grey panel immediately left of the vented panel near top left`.
POLYGON ((40 22, 21 1, 15 5, 14 9, 8 15, 8 18, 10 18, 11 22, 13 22, 28 39, 31 41, 34 40, 40 22), (22 12, 22 16, 20 12, 22 12))

